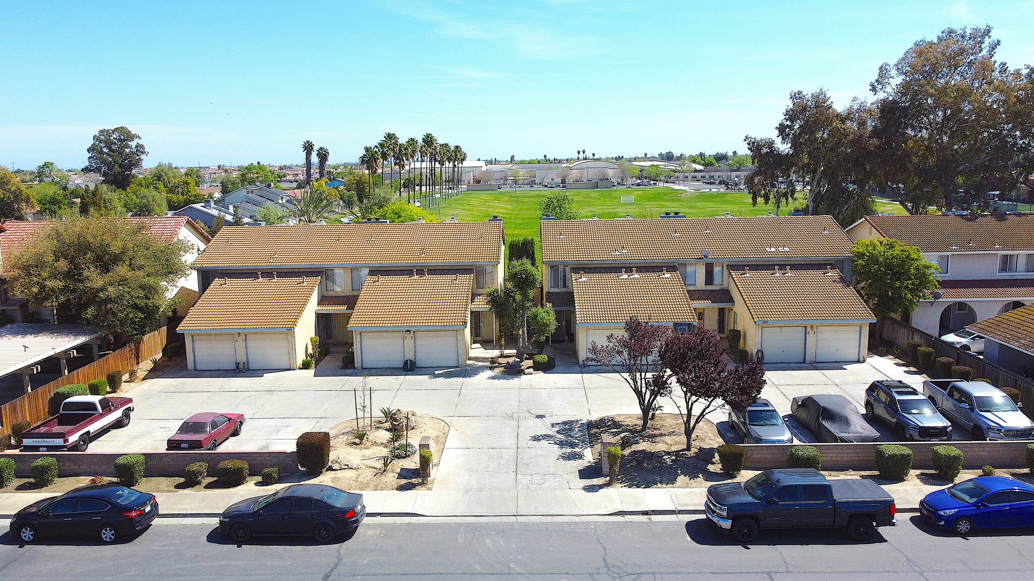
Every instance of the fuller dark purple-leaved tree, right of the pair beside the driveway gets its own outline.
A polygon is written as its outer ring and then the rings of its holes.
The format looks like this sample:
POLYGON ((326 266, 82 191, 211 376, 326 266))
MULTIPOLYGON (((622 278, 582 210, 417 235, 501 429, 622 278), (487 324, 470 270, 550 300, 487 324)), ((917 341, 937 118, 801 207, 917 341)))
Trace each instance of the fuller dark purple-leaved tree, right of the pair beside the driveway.
MULTIPOLYGON (((702 327, 692 333, 669 335, 658 349, 663 368, 659 378, 667 384, 673 377, 682 392, 687 450, 692 448, 693 432, 708 412, 722 404, 746 409, 757 401, 765 387, 765 370, 760 364, 730 367, 722 358, 723 353, 722 338, 702 327)), ((668 389, 670 393, 671 388, 668 389)))

